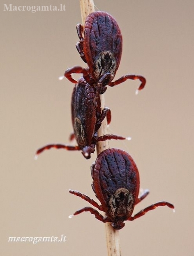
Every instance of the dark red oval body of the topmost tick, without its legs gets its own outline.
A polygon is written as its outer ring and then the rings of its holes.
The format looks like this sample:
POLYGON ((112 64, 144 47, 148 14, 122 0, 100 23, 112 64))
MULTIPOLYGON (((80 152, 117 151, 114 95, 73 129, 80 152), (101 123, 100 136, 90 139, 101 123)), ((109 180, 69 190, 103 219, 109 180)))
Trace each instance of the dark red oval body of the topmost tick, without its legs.
POLYGON ((110 14, 92 12, 86 17, 83 54, 91 77, 96 83, 104 73, 111 74, 109 82, 113 80, 120 64, 122 35, 117 22, 110 14), (106 52, 104 58, 100 57, 103 51, 106 52))

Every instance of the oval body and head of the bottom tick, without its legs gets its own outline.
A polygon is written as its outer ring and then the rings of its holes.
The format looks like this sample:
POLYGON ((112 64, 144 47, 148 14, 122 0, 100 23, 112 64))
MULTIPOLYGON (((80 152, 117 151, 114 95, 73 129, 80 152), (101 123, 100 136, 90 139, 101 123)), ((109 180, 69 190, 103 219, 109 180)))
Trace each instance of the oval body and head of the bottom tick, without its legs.
POLYGON ((102 210, 120 227, 132 215, 139 195, 139 171, 132 157, 121 149, 106 149, 91 168, 92 189, 102 210))

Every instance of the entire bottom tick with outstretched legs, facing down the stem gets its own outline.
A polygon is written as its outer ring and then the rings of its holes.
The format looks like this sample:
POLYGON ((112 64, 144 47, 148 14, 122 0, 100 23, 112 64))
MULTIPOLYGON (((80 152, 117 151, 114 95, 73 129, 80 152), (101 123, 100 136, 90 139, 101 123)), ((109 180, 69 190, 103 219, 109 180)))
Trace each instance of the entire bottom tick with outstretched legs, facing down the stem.
POLYGON ((101 205, 90 199, 85 194, 69 190, 71 194, 81 197, 95 206, 100 211, 104 211, 106 216, 102 216, 92 207, 85 207, 74 213, 77 215, 83 211, 90 211, 95 218, 102 222, 111 222, 115 229, 124 227, 125 220, 134 220, 143 216, 146 212, 155 209, 157 206, 168 206, 174 209, 173 204, 160 201, 139 211, 134 216, 134 206, 143 200, 149 193, 145 190, 139 195, 139 171, 132 157, 121 149, 106 149, 101 152, 91 166, 92 189, 101 205))

